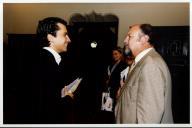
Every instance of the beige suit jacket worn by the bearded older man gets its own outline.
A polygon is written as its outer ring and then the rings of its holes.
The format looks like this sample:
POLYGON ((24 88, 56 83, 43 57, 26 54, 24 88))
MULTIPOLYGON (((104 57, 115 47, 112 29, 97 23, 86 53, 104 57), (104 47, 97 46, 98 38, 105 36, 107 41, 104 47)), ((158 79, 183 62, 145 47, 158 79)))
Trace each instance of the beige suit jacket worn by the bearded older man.
POLYGON ((154 49, 130 72, 115 117, 116 123, 173 123, 170 72, 154 49))

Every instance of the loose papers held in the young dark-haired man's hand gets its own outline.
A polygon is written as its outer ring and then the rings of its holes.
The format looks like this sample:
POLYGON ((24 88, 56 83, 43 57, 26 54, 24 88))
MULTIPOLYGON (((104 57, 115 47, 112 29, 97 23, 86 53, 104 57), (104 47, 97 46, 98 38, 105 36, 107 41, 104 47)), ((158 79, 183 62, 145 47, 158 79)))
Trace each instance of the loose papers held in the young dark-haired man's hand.
POLYGON ((77 78, 72 83, 70 83, 68 86, 65 86, 61 90, 61 97, 63 98, 70 93, 74 93, 75 90, 77 89, 77 87, 79 86, 79 84, 81 83, 81 80, 82 80, 82 78, 77 78))

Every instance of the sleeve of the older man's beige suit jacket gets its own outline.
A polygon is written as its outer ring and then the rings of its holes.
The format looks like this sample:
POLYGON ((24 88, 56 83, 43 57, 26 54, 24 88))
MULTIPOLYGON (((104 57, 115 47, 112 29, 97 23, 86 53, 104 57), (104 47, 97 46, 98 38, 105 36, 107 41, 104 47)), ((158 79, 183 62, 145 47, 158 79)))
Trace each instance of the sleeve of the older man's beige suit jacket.
POLYGON ((141 69, 137 94, 137 123, 160 123, 164 111, 164 78, 155 63, 141 69))

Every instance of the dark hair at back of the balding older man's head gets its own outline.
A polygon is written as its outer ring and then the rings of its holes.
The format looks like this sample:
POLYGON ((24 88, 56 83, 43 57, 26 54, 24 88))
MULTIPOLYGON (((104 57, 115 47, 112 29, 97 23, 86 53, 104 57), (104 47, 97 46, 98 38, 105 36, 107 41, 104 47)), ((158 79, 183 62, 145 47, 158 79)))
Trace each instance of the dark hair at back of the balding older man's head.
POLYGON ((145 34, 145 35, 148 35, 149 36, 149 42, 152 44, 152 25, 150 24, 141 24, 140 25, 140 29, 141 31, 145 34))

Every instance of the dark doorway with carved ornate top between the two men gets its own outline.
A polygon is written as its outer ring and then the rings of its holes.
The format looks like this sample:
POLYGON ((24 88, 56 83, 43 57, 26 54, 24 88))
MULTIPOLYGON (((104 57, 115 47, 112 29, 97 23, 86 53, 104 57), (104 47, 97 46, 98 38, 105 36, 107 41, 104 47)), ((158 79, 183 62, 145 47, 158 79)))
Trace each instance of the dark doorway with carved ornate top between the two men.
POLYGON ((112 49, 117 46, 118 19, 105 22, 104 16, 100 20, 97 17, 102 16, 92 13, 84 17, 87 20, 75 20, 69 26, 72 43, 65 58, 68 58, 67 63, 73 62, 67 69, 73 70, 73 77, 83 78, 77 92, 77 123, 99 123, 102 80, 111 61, 112 49), (95 18, 90 20, 89 17, 95 18))

